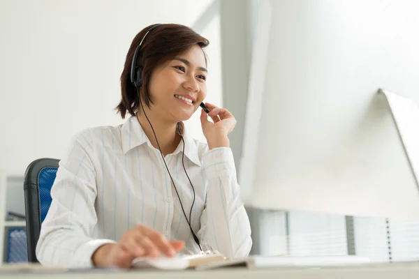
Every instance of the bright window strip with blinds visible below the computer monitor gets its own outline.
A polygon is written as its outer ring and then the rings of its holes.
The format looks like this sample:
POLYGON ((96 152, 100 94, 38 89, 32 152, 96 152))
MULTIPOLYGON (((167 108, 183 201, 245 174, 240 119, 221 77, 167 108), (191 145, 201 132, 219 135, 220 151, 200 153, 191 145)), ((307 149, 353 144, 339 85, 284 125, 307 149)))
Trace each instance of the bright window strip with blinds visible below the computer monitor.
POLYGON ((302 211, 259 210, 249 216, 253 232, 253 226, 259 225, 253 242, 260 243, 256 243, 253 254, 319 256, 355 252, 372 262, 419 259, 419 221, 302 211), (253 222, 255 214, 258 224, 253 222))

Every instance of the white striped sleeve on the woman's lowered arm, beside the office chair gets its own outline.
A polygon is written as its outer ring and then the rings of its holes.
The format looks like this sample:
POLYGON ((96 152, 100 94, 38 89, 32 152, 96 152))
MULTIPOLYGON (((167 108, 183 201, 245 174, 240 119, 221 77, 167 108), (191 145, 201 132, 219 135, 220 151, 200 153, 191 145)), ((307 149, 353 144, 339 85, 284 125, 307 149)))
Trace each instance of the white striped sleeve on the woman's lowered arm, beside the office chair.
POLYGON ((45 266, 91 267, 91 255, 110 239, 91 237, 97 222, 96 173, 91 142, 75 137, 59 162, 52 203, 41 226, 36 257, 45 266))

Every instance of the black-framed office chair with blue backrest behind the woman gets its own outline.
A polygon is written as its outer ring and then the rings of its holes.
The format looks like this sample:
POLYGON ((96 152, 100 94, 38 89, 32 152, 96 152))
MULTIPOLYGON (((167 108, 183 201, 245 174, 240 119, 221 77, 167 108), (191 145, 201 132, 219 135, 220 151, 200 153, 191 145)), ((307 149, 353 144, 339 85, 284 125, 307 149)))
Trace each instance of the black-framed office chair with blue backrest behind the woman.
POLYGON ((36 243, 41 224, 52 202, 51 187, 57 174, 59 160, 41 158, 34 160, 24 173, 24 207, 26 212, 28 262, 36 259, 36 243))

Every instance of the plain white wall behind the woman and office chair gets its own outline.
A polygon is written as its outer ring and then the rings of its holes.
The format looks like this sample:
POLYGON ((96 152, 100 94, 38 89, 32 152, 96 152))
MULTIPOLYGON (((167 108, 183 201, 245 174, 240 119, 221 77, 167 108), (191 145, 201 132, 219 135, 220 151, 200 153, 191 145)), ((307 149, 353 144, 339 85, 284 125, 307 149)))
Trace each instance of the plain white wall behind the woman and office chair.
MULTIPOLYGON (((113 108, 119 102, 119 76, 133 37, 156 22, 192 26, 210 3, 1 1, 0 169, 23 174, 36 158, 60 158, 79 130, 122 123, 113 108)), ((202 34, 210 40, 207 100, 217 103, 217 20, 202 34)), ((192 123, 199 137, 200 124, 192 123)))

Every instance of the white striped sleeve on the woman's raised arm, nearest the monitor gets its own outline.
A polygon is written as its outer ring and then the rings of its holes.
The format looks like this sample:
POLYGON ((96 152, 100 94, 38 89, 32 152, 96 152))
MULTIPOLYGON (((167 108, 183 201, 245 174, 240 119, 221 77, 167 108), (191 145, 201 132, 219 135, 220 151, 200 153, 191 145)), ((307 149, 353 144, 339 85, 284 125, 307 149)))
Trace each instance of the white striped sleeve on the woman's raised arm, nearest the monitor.
POLYGON ((247 257, 251 250, 249 217, 242 200, 233 152, 219 147, 203 155, 207 199, 198 238, 205 250, 214 249, 229 258, 247 257))

